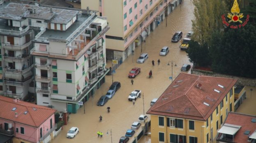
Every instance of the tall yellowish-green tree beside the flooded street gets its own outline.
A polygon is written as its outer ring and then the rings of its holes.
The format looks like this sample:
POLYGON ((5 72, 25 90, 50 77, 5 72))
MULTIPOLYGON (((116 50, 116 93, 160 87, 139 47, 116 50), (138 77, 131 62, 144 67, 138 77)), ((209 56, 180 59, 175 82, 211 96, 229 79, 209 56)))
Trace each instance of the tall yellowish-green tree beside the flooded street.
POLYGON ((208 44, 211 34, 223 29, 221 15, 226 13, 226 4, 222 0, 194 0, 193 3, 195 20, 192 20, 192 39, 201 45, 208 44))

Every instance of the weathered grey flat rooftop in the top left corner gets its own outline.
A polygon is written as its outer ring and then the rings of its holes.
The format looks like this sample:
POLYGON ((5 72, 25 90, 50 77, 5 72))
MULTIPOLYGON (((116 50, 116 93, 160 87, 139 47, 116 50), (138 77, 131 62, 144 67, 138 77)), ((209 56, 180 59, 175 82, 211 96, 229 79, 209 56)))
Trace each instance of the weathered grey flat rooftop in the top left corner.
POLYGON ((17 21, 23 21, 25 18, 35 18, 48 20, 51 23, 67 24, 78 12, 77 10, 7 2, 0 6, 0 18, 17 21))

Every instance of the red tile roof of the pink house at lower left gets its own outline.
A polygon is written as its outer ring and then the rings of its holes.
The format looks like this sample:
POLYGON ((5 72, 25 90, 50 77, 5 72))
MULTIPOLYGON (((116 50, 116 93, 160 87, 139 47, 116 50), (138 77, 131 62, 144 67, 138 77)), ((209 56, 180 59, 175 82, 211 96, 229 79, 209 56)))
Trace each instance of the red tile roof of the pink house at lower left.
POLYGON ((55 113, 55 109, 27 103, 14 102, 13 98, 0 96, 0 118, 23 123, 33 127, 39 127, 46 119, 55 113), (16 107, 15 111, 12 109, 16 107), (27 111, 27 114, 24 114, 27 111), (15 113, 17 117, 15 117, 15 113))

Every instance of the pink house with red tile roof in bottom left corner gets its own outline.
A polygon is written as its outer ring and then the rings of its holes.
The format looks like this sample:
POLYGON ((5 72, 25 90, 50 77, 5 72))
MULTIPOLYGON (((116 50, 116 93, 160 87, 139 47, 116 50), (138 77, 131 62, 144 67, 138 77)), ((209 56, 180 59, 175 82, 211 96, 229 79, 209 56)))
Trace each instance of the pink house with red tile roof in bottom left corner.
POLYGON ((0 142, 48 143, 53 139, 55 109, 5 96, 0 96, 0 106, 0 142))

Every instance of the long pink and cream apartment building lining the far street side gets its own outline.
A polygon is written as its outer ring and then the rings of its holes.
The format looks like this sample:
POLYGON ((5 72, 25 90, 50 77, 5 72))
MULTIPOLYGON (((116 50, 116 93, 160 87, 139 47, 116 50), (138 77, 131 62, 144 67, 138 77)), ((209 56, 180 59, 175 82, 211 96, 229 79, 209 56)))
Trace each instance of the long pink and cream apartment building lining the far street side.
POLYGON ((90 7, 108 18, 112 28, 106 33, 106 56, 125 60, 181 1, 81 0, 81 8, 90 7))

